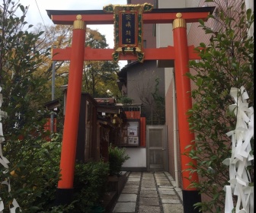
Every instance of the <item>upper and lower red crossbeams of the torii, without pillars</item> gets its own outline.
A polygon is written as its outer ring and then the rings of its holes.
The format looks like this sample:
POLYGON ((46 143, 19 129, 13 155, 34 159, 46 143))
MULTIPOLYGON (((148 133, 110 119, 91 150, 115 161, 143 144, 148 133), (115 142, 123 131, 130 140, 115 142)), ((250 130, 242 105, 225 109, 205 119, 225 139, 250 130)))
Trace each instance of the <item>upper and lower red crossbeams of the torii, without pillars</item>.
MULTIPOLYGON (((170 24, 174 21, 177 13, 182 13, 182 17, 186 23, 197 22, 199 19, 206 21, 208 14, 212 14, 215 7, 203 8, 162 8, 153 9, 150 13, 142 14, 143 24, 170 24)), ((48 16, 53 20, 54 24, 72 25, 76 20, 76 15, 81 14, 82 20, 85 24, 114 24, 113 14, 106 14, 102 10, 84 10, 84 11, 60 11, 60 10, 46 10, 48 16)), ((199 59, 194 52, 194 46, 188 46, 189 59, 199 59)), ((112 53, 114 49, 91 49, 86 48, 85 60, 89 61, 103 61, 112 60, 112 53)), ((165 48, 145 48, 145 60, 168 60, 174 59, 174 49, 172 46, 165 48)), ((70 60, 71 48, 53 49, 53 60, 63 61, 70 60), (58 54, 56 54, 58 53, 58 54)), ((126 56, 120 55, 120 60, 136 60, 136 56, 128 54, 126 56)))

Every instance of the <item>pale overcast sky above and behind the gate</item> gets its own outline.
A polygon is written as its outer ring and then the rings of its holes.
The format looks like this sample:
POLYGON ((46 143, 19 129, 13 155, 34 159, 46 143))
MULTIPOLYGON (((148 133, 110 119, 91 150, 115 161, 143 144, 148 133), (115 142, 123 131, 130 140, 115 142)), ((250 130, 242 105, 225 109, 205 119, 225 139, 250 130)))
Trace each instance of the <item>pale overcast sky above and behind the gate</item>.
MULTIPOLYGON (((42 23, 49 26, 53 24, 53 21, 48 17, 46 10, 102 10, 105 5, 109 4, 126 5, 126 0, 20 0, 20 3, 29 6, 26 19, 28 24, 35 26, 42 23)), ((105 35, 110 48, 114 47, 112 24, 88 25, 88 27, 105 35)), ((120 66, 123 67, 123 65, 126 65, 126 61, 120 61, 120 66)))

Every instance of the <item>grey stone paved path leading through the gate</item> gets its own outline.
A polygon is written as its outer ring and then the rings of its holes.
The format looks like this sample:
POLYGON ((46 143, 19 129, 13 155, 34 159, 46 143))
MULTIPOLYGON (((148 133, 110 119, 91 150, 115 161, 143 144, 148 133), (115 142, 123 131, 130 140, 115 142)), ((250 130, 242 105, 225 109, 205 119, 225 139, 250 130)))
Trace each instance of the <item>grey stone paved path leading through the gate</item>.
POLYGON ((113 213, 183 213, 181 189, 174 188, 167 172, 132 172, 113 213))

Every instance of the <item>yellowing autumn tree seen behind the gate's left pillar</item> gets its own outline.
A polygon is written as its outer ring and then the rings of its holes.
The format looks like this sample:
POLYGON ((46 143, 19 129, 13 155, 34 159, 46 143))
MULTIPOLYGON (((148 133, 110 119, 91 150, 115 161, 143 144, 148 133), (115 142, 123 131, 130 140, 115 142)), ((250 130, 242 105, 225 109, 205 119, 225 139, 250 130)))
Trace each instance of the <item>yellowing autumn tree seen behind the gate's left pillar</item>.
MULTIPOLYGON (((46 49, 47 47, 62 48, 72 46, 72 26, 70 25, 54 25, 45 27, 38 24, 34 32, 39 33, 44 30, 45 33, 37 42, 37 48, 46 49)), ((85 46, 92 49, 104 49, 108 47, 106 37, 98 32, 98 30, 86 29, 85 46)), ((117 87, 117 72, 119 65, 112 61, 86 61, 83 68, 83 84, 82 91, 88 92, 93 97, 107 97, 107 89, 113 92, 114 96, 119 95, 117 87)), ((59 61, 55 64, 56 77, 56 97, 62 96, 59 87, 68 84, 69 78, 69 61, 59 61)), ((53 74, 53 61, 51 57, 45 59, 43 65, 38 69, 38 76, 48 79, 50 99, 50 84, 53 74)))

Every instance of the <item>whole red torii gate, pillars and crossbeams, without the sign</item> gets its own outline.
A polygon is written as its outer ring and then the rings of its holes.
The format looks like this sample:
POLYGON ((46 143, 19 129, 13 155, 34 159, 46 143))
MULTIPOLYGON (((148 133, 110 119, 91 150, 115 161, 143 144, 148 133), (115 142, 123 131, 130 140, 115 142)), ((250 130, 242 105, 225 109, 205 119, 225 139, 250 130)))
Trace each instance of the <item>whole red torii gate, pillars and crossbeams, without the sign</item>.
MULTIPOLYGON (((129 5, 127 5, 129 6, 129 5)), ((194 52, 194 46, 187 46, 186 23, 206 21, 212 14, 214 7, 205 8, 170 8, 153 9, 150 13, 142 14, 143 24, 173 24, 174 46, 165 48, 143 49, 145 60, 174 60, 175 81, 177 85, 178 127, 181 147, 181 169, 186 170, 189 162, 197 162, 185 156, 187 145, 194 140, 187 122, 187 110, 192 106, 190 79, 185 76, 189 72, 188 61, 200 59, 194 52)), ((114 49, 91 49, 85 47, 85 24, 114 24, 113 14, 106 14, 101 10, 94 11, 53 11, 47 10, 54 24, 73 24, 72 47, 53 49, 53 60, 69 60, 69 88, 66 100, 66 118, 64 122, 62 153, 60 169, 62 179, 58 183, 57 203, 66 204, 71 200, 74 170, 75 151, 77 141, 78 116, 80 95, 82 91, 82 68, 85 60, 103 61, 112 60, 114 49)), ((120 60, 136 60, 133 54, 120 54, 120 60)), ((190 185, 189 172, 182 173, 184 212, 198 212, 194 204, 200 202, 200 195, 190 185)), ((193 181, 198 181, 197 173, 192 175, 193 181)))

